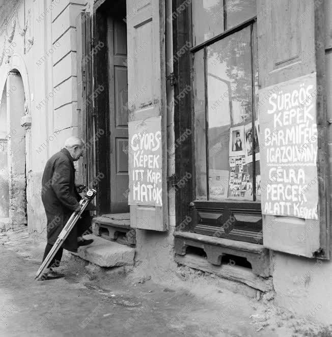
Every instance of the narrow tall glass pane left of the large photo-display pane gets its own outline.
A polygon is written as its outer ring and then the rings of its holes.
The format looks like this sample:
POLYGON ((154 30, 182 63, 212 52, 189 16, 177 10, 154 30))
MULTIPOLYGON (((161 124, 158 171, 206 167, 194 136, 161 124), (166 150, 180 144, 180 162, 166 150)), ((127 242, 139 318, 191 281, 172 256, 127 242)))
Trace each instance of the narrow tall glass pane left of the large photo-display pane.
POLYGON ((206 193, 206 135, 204 50, 195 53, 193 62, 193 109, 195 123, 196 199, 207 198, 206 193))

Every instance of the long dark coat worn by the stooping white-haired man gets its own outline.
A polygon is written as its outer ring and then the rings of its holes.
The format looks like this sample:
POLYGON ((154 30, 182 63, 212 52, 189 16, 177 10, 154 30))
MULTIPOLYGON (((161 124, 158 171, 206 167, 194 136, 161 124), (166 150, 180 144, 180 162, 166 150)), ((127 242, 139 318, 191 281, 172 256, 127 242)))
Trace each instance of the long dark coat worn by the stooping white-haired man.
MULTIPOLYGON (((47 217, 47 242, 54 244, 81 199, 75 187, 74 161, 67 149, 47 160, 41 194, 47 217)), ((77 236, 90 225, 90 212, 85 211, 63 243, 63 248, 77 252, 77 236)))

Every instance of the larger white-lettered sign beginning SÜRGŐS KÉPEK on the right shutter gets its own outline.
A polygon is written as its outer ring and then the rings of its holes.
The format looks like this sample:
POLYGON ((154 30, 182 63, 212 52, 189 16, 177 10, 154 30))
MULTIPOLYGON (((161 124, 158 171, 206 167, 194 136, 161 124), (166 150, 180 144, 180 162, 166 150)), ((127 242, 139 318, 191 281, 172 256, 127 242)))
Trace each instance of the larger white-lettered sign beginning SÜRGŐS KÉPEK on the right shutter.
POLYGON ((318 219, 316 96, 316 73, 259 91, 263 214, 318 219))

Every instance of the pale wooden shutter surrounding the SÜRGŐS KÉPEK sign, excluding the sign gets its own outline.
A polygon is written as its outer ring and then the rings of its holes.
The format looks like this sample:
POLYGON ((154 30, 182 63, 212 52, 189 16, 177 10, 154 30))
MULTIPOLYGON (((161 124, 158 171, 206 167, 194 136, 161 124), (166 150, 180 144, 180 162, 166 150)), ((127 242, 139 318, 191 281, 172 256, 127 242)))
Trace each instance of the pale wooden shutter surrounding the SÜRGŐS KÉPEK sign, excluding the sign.
MULTIPOLYGON (((323 3, 287 0, 273 4, 273 0, 258 0, 257 4, 257 12, 260 13, 257 20, 258 52, 259 55, 264 55, 260 57, 258 63, 260 92, 264 93, 264 90, 267 91, 275 86, 278 88, 276 90, 278 93, 283 93, 283 90, 284 92, 287 90, 288 81, 293 79, 302 81, 304 78, 302 76, 309 74, 316 77, 313 82, 318 89, 324 81, 324 55, 320 47, 321 41, 324 39, 324 32, 320 28, 320 23, 323 21, 321 19, 323 3), (266 9, 268 10, 266 11, 266 9), (266 11, 265 15, 261 15, 263 11, 266 11), (290 18, 293 17, 297 17, 298 20, 291 20, 290 18), (268 50, 271 50, 269 51, 272 53, 271 57, 267 57, 268 50)), ((272 93, 270 91, 268 97, 271 97, 272 93)), ((273 95, 276 97, 276 93, 273 95)), ((263 105, 264 100, 268 100, 266 97, 261 95, 259 101, 262 114, 266 114, 267 111, 263 105)), ((327 123, 323 93, 318 92, 317 95, 312 95, 312 98, 316 99, 315 114, 317 115, 318 129, 316 134, 319 137, 317 137, 318 177, 313 173, 310 178, 312 181, 318 181, 318 185, 313 184, 313 186, 317 187, 319 191, 319 220, 301 218, 300 216, 270 215, 265 212, 263 214, 263 243, 267 248, 289 254, 328 259, 328 204, 325 199, 326 183, 323 178, 327 176, 327 158, 324 157, 327 152, 325 148, 327 123)), ((314 101, 313 104, 315 104, 314 101)), ((262 116, 260 113, 261 120, 262 116)), ((263 139, 261 141, 263 144, 265 138, 262 124, 261 139, 263 139)), ((262 176, 261 186, 265 186, 268 190, 270 185, 271 180, 262 176)))

